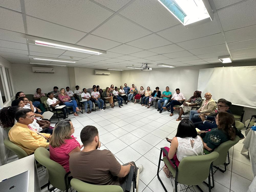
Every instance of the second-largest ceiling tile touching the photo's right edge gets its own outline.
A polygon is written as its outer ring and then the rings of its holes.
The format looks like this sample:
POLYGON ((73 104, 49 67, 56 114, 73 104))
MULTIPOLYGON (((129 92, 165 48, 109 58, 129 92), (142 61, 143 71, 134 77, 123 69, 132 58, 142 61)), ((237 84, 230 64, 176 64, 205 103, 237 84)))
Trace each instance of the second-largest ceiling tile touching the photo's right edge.
POLYGON ((256 38, 256 25, 226 31, 225 37, 228 43, 256 38))

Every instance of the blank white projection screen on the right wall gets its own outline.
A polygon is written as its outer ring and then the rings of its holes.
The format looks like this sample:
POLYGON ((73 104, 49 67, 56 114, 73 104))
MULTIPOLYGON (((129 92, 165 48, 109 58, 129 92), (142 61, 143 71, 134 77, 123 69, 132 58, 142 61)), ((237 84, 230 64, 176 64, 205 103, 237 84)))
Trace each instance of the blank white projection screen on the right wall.
POLYGON ((234 105, 256 109, 256 66, 200 69, 197 90, 234 105))

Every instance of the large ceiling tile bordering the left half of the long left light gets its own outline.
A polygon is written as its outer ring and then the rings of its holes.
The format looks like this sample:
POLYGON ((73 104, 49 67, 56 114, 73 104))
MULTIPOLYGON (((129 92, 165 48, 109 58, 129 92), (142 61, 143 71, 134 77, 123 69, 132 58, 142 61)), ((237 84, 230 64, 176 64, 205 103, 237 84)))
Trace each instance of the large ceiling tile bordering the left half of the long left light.
POLYGON ((33 17, 26 18, 28 35, 75 44, 87 34, 33 17))

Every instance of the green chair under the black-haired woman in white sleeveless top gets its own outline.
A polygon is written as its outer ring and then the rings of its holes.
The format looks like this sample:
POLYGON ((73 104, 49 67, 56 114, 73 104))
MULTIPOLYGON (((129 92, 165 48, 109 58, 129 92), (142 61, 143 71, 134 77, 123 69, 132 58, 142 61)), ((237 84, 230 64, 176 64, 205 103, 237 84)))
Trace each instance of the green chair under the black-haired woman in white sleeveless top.
MULTIPOLYGON (((210 169, 212 162, 219 157, 218 152, 212 152, 208 155, 198 155, 198 156, 189 156, 182 159, 179 164, 179 167, 175 164, 173 159, 168 159, 168 155, 162 158, 162 152, 168 154, 165 148, 161 148, 158 168, 157 168, 157 178, 163 186, 164 190, 167 192, 162 180, 159 177, 159 169, 161 161, 164 161, 165 165, 168 167, 171 176, 175 181, 175 191, 177 192, 177 185, 196 185, 198 186, 208 177, 208 182, 210 183, 210 169), (172 166, 174 164, 175 168, 172 166)), ((202 190, 201 190, 202 191, 202 190)), ((209 186, 209 191, 211 187, 209 186)))

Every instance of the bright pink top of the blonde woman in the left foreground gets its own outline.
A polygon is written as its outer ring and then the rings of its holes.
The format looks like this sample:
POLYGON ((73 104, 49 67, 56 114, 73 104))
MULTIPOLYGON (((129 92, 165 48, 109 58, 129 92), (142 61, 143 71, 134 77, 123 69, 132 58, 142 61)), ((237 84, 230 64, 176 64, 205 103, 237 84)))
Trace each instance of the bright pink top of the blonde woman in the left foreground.
POLYGON ((80 147, 79 142, 75 139, 66 139, 59 147, 53 148, 49 145, 50 148, 50 158, 51 160, 59 163, 64 167, 64 169, 69 172, 69 153, 76 147, 80 147))

